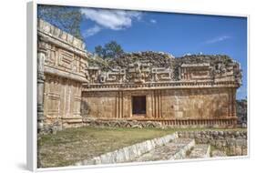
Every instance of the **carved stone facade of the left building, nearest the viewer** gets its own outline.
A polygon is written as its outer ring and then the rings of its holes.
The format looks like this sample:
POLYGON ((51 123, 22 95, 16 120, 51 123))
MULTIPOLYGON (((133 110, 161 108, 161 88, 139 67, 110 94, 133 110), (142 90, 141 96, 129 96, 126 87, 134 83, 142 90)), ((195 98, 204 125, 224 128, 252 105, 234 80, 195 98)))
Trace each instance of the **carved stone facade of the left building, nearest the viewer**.
POLYGON ((87 83, 84 43, 43 20, 37 23, 38 126, 82 124, 81 90, 87 83))

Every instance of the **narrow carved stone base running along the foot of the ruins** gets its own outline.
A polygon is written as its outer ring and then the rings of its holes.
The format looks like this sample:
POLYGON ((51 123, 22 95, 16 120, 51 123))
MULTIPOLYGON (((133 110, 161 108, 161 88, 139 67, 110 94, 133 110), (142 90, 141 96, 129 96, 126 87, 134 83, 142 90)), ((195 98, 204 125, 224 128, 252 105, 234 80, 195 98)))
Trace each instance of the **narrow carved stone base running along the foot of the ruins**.
POLYGON ((236 119, 107 119, 68 117, 46 124, 43 133, 56 133, 67 127, 156 127, 156 128, 205 128, 205 127, 236 127, 236 119))

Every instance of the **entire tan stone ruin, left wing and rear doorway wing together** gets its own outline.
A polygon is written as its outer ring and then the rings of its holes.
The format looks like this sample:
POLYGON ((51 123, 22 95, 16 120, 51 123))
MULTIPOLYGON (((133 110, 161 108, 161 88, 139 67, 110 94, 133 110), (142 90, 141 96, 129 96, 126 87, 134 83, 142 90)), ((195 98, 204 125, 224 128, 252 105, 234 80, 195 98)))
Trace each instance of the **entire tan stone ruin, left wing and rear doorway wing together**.
POLYGON ((235 127, 239 63, 229 56, 125 53, 100 64, 39 19, 37 122, 46 127, 235 127))

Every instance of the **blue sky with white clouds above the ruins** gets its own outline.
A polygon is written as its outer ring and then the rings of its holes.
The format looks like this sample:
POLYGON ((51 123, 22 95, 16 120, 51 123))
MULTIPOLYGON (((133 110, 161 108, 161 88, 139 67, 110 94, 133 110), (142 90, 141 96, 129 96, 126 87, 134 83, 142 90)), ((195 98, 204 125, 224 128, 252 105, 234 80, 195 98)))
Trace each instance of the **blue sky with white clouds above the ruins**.
POLYGON ((242 86, 237 98, 247 97, 247 19, 219 15, 186 15, 82 8, 82 35, 87 50, 116 40, 126 52, 161 51, 228 55, 241 63, 242 86))

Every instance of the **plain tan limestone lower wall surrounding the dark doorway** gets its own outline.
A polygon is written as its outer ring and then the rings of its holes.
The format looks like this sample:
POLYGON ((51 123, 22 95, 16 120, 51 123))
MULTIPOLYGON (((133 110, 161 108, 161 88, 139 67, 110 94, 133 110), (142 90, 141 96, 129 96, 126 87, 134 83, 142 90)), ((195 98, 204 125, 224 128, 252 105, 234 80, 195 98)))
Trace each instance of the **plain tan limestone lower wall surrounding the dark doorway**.
POLYGON ((232 88, 83 92, 83 117, 159 121, 172 127, 235 125, 232 88), (132 97, 146 97, 146 114, 132 114, 132 97))

